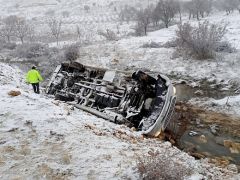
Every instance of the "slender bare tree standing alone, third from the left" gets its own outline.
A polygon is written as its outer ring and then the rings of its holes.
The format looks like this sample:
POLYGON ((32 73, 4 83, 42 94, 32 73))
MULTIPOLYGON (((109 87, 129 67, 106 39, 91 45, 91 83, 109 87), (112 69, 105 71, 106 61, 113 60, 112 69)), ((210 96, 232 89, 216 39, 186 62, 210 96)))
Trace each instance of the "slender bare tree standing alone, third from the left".
POLYGON ((48 20, 48 26, 50 28, 52 36, 56 39, 57 45, 58 45, 59 37, 62 29, 62 20, 51 18, 48 20))

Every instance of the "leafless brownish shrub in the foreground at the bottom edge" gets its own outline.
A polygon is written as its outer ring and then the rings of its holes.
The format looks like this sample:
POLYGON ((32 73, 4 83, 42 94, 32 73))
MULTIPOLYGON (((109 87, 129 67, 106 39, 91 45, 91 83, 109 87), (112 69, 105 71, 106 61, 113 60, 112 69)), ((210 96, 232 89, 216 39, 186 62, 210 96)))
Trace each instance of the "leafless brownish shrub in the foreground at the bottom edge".
POLYGON ((138 157, 137 170, 144 180, 181 180, 191 174, 190 169, 174 162, 167 150, 164 153, 150 150, 147 156, 138 157))

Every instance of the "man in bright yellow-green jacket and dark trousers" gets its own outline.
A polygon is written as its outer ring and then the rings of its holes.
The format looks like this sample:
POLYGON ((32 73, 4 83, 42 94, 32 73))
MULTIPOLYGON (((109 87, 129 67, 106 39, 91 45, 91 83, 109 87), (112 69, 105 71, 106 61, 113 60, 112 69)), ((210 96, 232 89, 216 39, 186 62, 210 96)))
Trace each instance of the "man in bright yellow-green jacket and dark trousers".
POLYGON ((33 90, 35 93, 40 94, 39 91, 39 82, 43 81, 42 76, 36 70, 36 66, 33 66, 30 71, 27 73, 27 83, 32 84, 33 90))

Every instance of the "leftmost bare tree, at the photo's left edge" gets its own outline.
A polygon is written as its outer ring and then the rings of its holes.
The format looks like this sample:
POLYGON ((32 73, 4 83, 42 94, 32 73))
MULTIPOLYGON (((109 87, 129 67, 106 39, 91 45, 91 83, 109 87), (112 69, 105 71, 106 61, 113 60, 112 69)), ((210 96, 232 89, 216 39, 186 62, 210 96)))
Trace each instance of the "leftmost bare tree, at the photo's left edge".
POLYGON ((10 42, 11 37, 14 36, 16 22, 18 20, 17 16, 8 16, 3 19, 3 27, 1 28, 1 36, 7 38, 7 41, 10 42))

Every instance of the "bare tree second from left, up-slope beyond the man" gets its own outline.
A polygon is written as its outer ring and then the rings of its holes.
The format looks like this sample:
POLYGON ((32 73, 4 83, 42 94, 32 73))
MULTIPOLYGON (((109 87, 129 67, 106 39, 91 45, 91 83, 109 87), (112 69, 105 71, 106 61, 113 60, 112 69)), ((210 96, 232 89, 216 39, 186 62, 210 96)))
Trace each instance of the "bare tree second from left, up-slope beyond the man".
POLYGON ((27 24, 24 18, 18 18, 15 24, 14 34, 19 38, 23 44, 24 38, 30 33, 30 26, 27 24))

